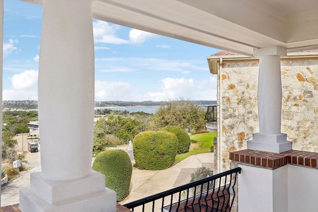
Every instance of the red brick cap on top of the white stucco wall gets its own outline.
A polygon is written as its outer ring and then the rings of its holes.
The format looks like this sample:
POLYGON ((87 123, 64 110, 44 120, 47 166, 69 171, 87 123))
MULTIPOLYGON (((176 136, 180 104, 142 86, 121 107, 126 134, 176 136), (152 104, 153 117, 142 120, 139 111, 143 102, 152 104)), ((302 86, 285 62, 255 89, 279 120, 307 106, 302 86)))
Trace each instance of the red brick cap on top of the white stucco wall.
POLYGON ((244 149, 230 152, 230 159, 256 166, 275 169, 288 163, 318 168, 318 153, 289 150, 281 153, 244 149))

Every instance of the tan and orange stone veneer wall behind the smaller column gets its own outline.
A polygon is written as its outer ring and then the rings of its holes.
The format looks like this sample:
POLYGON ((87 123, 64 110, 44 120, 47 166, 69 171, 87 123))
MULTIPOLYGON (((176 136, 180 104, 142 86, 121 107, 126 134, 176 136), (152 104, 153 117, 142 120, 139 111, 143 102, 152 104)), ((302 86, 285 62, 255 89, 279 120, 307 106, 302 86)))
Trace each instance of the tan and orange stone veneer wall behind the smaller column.
MULTIPOLYGON (((282 59, 281 67, 281 131, 293 141, 293 149, 318 152, 318 58, 282 59)), ((258 60, 223 61, 222 75, 218 70, 218 86, 220 78, 223 120, 220 125, 218 117, 218 135, 222 131, 222 164, 220 155, 217 164, 225 171, 230 168, 229 152, 246 149, 246 141, 259 132, 258 60)))

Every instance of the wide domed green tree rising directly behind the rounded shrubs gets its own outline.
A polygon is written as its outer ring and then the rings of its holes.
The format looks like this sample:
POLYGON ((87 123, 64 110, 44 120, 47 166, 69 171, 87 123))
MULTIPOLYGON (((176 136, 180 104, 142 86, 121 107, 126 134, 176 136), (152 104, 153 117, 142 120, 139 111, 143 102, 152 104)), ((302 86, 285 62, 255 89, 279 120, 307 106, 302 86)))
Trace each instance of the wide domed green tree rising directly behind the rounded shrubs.
POLYGON ((205 127, 206 111, 189 100, 169 100, 160 105, 153 116, 153 129, 159 130, 171 125, 183 130, 201 130, 205 127))

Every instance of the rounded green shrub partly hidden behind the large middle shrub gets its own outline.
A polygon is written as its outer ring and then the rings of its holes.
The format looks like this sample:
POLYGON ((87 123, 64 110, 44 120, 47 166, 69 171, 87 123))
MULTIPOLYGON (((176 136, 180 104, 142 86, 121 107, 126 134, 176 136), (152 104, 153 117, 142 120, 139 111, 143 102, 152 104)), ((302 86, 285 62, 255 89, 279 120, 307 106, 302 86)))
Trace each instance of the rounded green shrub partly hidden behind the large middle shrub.
POLYGON ((176 126, 165 126, 161 129, 173 133, 178 138, 178 154, 186 153, 189 151, 191 140, 190 136, 181 128, 176 126))

